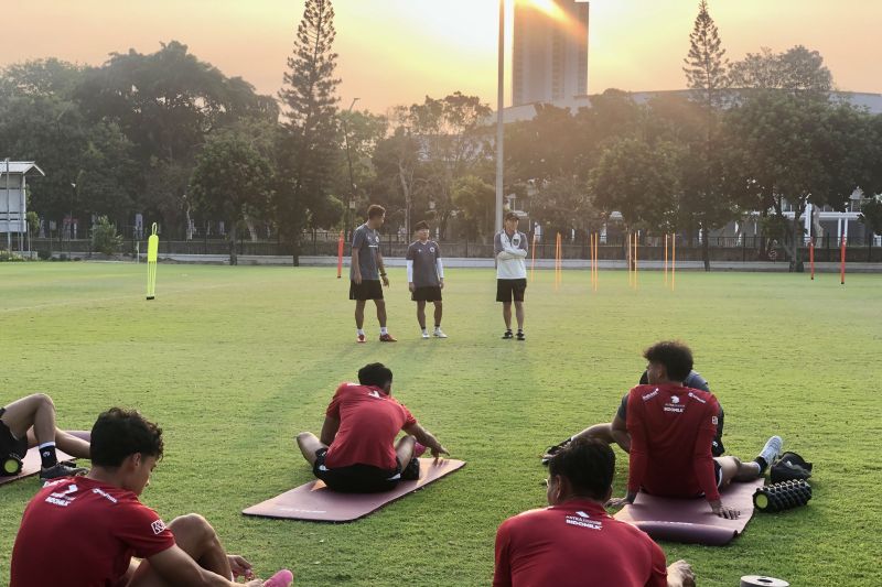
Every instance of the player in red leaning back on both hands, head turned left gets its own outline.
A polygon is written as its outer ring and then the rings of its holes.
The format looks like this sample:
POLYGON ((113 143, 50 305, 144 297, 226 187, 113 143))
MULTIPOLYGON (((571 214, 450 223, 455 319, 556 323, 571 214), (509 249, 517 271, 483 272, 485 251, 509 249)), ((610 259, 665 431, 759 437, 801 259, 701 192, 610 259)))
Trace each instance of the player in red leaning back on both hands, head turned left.
POLYGON ((733 480, 762 476, 781 450, 781 437, 772 436, 750 463, 732 456, 714 458, 711 443, 720 412, 717 398, 682 384, 692 370, 692 351, 682 343, 663 341, 643 356, 649 361, 649 383, 632 389, 627 399, 627 494, 610 506, 633 503, 639 490, 674 498, 703 496, 717 515, 738 518, 741 512, 723 506, 720 489, 733 480))

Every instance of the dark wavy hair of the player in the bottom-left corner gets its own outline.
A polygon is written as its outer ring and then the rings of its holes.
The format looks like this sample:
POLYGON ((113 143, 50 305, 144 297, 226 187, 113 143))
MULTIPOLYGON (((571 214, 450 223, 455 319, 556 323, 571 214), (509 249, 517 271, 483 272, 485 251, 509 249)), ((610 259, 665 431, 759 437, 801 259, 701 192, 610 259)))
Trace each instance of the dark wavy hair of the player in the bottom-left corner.
POLYGON ((136 410, 111 407, 92 427, 89 455, 99 467, 119 467, 129 455, 162 458, 162 428, 136 410))

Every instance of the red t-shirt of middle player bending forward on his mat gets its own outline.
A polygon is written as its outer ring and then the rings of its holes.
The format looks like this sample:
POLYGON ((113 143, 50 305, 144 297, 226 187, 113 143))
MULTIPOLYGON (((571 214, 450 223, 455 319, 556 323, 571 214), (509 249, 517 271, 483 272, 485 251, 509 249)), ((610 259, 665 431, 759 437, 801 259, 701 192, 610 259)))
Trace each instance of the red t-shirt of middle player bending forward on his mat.
POLYGON ((325 413, 340 420, 324 459, 330 469, 358 464, 394 470, 395 437, 402 427, 417 423, 407 407, 380 388, 355 383, 342 383, 325 413))

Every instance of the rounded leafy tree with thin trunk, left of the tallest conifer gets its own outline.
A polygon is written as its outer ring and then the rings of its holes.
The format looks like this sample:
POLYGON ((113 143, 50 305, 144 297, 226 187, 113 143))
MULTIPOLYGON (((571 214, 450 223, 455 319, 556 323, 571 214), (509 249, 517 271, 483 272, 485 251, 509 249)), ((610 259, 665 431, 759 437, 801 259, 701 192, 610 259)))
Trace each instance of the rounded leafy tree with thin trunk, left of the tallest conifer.
POLYGON ((268 207, 272 167, 247 141, 225 132, 212 138, 196 157, 190 199, 196 210, 229 226, 229 264, 237 264, 237 225, 268 207))

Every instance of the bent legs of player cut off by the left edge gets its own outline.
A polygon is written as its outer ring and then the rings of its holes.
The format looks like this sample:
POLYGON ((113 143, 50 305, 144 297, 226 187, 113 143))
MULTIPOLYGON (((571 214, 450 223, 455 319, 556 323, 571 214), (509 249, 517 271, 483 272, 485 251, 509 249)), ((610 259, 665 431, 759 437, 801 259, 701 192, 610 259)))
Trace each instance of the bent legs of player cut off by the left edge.
POLYGON ((28 449, 40 447, 40 478, 55 479, 86 472, 58 463, 55 446, 75 458, 89 458, 89 443, 55 427, 55 404, 43 393, 28 395, 0 407, 0 459, 24 458, 28 449))

